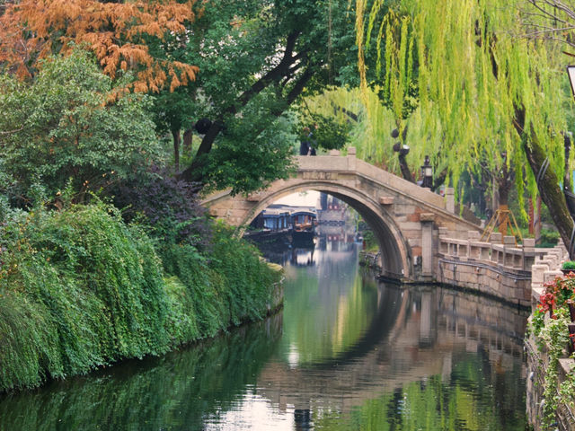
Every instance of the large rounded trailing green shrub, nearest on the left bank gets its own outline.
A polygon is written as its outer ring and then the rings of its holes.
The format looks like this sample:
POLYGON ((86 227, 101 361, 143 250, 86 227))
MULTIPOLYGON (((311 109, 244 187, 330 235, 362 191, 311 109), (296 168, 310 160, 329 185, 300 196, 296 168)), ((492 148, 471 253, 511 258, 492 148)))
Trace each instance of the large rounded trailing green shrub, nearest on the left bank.
POLYGON ((1 241, 0 387, 170 347, 161 261, 110 207, 30 213, 1 241))

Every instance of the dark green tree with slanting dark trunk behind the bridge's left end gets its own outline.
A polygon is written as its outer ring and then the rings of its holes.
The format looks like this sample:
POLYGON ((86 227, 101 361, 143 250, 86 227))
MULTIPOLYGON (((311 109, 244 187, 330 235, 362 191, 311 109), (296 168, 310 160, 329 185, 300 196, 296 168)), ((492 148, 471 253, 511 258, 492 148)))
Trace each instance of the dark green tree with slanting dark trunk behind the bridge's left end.
POLYGON ((290 171, 296 136, 282 132, 291 119, 284 113, 302 93, 336 83, 339 70, 352 64, 353 13, 346 0, 201 7, 187 40, 174 36, 150 48, 199 66, 186 88, 155 96, 156 122, 172 132, 178 149, 181 129, 210 120, 181 178, 234 192, 259 189, 290 171))

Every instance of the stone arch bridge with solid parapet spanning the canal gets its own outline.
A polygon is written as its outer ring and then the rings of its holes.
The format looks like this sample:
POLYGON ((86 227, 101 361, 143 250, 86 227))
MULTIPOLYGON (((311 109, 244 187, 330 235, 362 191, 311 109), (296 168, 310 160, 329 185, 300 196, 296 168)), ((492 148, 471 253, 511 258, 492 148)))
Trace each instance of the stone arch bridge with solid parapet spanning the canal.
POLYGON ((425 280, 437 268, 439 228, 464 237, 479 226, 457 216, 453 190, 443 198, 429 189, 348 155, 298 156, 297 174, 277 180, 268 189, 247 197, 229 190, 202 200, 211 216, 237 226, 240 233, 266 207, 292 193, 317 190, 346 202, 358 211, 376 235, 382 274, 400 280, 425 280))

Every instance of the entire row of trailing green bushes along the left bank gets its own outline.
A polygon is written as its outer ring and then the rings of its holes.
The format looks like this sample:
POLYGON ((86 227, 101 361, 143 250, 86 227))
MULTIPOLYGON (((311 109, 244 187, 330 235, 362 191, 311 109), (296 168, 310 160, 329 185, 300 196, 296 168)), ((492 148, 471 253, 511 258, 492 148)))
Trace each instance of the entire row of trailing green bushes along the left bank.
POLYGON ((102 203, 23 213, 0 231, 0 390, 160 354, 261 317, 275 275, 217 228, 210 258, 162 247, 102 203))

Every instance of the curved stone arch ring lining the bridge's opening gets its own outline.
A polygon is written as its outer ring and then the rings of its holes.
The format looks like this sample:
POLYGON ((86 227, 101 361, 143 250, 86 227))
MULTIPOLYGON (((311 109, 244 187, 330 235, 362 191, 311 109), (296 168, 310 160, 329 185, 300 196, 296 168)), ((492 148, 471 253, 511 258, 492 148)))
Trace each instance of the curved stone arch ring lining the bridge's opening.
POLYGON ((410 247, 403 237, 399 226, 395 223, 393 216, 388 214, 387 210, 376 202, 374 197, 368 196, 358 189, 334 185, 321 180, 309 181, 303 185, 297 184, 286 189, 280 189, 261 199, 242 221, 242 225, 249 225, 261 211, 269 207, 279 198, 310 189, 327 193, 344 201, 363 217, 376 235, 381 252, 381 266, 384 273, 396 278, 403 276, 409 277, 412 274, 410 247))

